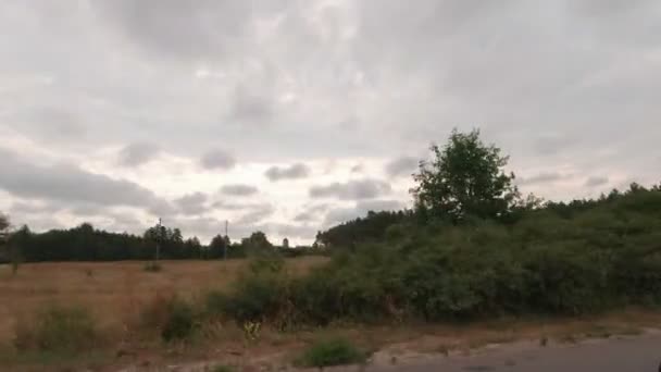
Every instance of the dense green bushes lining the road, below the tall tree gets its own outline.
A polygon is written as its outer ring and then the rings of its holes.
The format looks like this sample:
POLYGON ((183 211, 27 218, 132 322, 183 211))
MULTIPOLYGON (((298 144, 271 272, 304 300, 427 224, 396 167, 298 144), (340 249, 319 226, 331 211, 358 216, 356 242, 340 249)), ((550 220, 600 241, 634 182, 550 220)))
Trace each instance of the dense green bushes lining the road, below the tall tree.
POLYGON ((577 212, 529 211, 516 223, 391 226, 381 243, 338 252, 298 278, 245 276, 224 299, 239 321, 324 325, 498 314, 583 314, 661 303, 661 193, 577 212))

